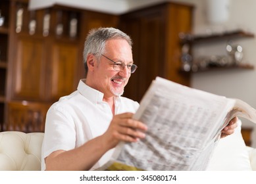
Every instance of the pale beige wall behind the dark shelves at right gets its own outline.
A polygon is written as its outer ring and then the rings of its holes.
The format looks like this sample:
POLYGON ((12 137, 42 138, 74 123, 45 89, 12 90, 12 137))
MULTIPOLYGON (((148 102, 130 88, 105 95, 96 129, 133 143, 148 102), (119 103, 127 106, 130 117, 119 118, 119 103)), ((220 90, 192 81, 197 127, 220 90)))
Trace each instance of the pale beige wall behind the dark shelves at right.
MULTIPOLYGON (((205 11, 205 0, 187 0, 185 3, 195 5, 194 27, 195 34, 209 32, 231 31, 242 28, 256 35, 256 1, 230 0, 230 17, 224 24, 209 24, 205 11)), ((256 36, 255 36, 256 37, 256 36)), ((200 45, 194 50, 195 57, 200 55, 226 55, 227 41, 211 45, 200 45)), ((255 65, 255 70, 223 70, 203 72, 192 75, 192 87, 209 91, 217 95, 242 99, 256 108, 256 38, 236 39, 234 44, 243 47, 243 61, 255 65)), ((243 127, 254 127, 252 146, 256 147, 256 125, 242 119, 243 127)))

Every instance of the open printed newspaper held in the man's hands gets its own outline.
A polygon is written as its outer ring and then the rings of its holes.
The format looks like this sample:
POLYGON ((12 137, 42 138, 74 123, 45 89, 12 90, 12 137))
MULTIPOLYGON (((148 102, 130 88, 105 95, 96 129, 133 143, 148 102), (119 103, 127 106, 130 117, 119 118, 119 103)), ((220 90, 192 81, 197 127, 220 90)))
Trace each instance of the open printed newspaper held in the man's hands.
POLYGON ((145 139, 120 143, 98 170, 205 170, 221 130, 235 116, 256 123, 256 110, 157 77, 134 118, 147 124, 145 139))

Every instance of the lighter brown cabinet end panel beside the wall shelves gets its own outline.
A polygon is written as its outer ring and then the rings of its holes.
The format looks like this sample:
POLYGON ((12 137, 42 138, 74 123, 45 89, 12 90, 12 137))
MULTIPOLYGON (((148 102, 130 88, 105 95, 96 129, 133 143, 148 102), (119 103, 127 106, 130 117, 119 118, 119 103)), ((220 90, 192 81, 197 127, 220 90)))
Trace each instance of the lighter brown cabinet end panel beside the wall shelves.
POLYGON ((166 27, 166 78, 190 86, 190 74, 180 73, 181 46, 179 34, 192 31, 192 7, 169 4, 166 27))

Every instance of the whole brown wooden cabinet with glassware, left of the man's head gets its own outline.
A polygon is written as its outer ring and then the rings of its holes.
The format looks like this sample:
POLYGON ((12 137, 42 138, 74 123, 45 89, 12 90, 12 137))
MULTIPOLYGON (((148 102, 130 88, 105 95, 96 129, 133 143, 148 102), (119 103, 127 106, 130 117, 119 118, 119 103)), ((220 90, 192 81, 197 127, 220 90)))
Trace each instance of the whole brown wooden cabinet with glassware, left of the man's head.
POLYGON ((8 20, 0 26, 0 131, 44 131, 49 106, 85 76, 88 31, 116 27, 118 18, 61 6, 29 11, 28 0, 1 0, 0 9, 8 20))

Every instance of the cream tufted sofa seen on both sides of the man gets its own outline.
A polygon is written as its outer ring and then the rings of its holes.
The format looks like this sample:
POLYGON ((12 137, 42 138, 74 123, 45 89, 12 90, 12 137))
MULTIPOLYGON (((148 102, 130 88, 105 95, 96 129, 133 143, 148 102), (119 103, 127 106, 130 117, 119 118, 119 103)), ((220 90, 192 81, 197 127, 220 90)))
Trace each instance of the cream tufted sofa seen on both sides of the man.
MULTIPOLYGON (((41 170, 44 133, 0 132, 0 171, 41 170)), ((256 149, 246 147, 240 129, 218 143, 208 170, 256 170, 256 149)))

